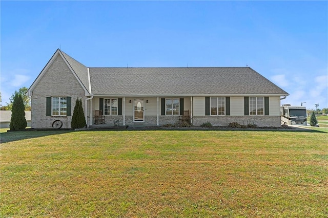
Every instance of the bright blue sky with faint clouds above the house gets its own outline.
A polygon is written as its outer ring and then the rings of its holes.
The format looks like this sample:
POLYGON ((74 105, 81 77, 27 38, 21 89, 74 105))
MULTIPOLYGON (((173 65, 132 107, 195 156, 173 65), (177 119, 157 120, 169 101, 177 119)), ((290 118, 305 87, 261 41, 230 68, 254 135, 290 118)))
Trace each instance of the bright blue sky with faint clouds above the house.
POLYGON ((328 107, 327 1, 1 1, 2 104, 57 48, 87 67, 245 67, 328 107))

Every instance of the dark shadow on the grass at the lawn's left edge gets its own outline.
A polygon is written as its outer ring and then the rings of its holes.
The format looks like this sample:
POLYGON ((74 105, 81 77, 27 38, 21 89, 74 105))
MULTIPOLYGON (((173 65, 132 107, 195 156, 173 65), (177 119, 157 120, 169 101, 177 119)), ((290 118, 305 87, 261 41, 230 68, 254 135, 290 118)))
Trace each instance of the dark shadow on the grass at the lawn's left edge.
POLYGON ((73 129, 60 129, 60 130, 35 130, 25 129, 21 131, 8 131, 0 133, 0 143, 19 141, 24 139, 32 139, 50 135, 60 135, 73 132, 73 129))

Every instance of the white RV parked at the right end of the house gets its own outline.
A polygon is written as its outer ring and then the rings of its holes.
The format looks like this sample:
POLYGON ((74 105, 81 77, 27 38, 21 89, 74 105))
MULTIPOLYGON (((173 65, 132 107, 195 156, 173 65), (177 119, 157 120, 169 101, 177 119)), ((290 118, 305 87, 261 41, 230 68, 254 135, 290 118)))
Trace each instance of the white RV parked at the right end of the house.
POLYGON ((282 125, 308 125, 306 107, 304 106, 283 104, 280 106, 280 117, 282 125))

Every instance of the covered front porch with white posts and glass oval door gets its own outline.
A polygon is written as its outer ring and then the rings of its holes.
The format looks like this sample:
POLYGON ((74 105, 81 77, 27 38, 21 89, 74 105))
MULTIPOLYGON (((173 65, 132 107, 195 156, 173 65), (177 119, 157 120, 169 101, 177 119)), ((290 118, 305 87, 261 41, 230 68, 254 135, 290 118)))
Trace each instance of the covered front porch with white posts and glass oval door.
POLYGON ((160 126, 179 123, 183 111, 189 110, 192 119, 192 97, 93 97, 87 103, 88 126, 160 126), (104 121, 96 122, 96 111, 104 121), (103 119, 103 118, 102 118, 103 119), (99 124, 95 124, 99 123, 99 124), (101 123, 101 124, 100 124, 101 123))

